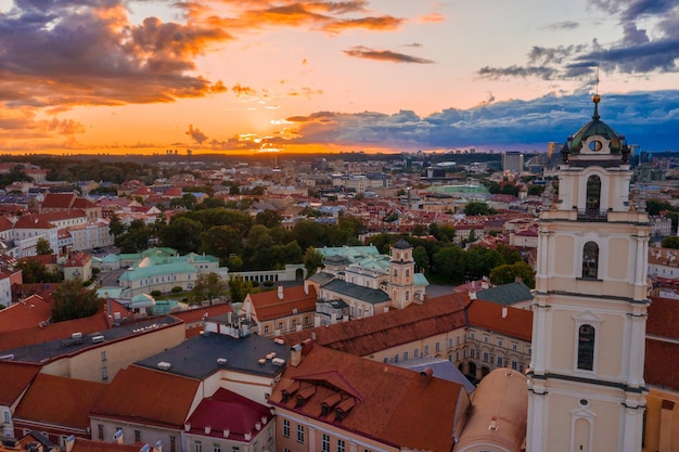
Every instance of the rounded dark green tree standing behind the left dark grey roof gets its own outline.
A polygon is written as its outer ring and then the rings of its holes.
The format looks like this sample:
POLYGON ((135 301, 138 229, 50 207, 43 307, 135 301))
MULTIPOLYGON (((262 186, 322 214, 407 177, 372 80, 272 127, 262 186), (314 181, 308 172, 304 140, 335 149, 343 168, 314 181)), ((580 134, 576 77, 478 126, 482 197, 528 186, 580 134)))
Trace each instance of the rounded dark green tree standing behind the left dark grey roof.
POLYGON ((52 293, 52 321, 82 319, 93 315, 101 307, 97 292, 79 281, 64 281, 52 293))

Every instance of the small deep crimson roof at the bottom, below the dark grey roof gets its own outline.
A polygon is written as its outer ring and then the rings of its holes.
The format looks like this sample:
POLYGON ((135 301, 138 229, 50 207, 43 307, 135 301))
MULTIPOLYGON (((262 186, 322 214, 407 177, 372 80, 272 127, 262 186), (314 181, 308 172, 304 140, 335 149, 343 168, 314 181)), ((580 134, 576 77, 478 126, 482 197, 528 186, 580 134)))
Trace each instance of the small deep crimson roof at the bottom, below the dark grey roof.
MULTIPOLYGON (((257 435, 257 423, 271 421, 269 408, 254 402, 243 396, 223 388, 206 399, 203 399, 195 411, 191 414, 188 423, 191 424, 191 432, 206 435, 205 427, 212 428, 208 436, 223 438, 223 430, 229 429, 229 439, 245 441, 245 434, 257 435)), ((247 441, 249 442, 249 441, 247 441)))

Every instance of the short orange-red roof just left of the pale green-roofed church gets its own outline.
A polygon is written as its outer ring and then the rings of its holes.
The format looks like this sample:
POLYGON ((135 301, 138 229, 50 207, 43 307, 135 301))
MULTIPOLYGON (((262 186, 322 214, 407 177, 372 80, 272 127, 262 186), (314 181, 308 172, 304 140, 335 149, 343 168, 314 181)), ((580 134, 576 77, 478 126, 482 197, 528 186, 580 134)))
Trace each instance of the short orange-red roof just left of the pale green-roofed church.
POLYGON ((316 287, 310 285, 309 293, 304 292, 304 285, 283 288, 283 299, 278 290, 260 292, 247 295, 255 308, 254 313, 259 322, 274 320, 297 312, 316 312, 316 287))

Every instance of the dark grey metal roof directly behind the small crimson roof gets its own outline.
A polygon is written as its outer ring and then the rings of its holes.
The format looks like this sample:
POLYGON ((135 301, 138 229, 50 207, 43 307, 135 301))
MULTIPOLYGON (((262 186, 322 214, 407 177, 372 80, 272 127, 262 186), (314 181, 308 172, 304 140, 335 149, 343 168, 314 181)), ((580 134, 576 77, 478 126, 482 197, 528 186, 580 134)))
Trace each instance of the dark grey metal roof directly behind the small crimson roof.
POLYGON ((258 362, 272 351, 277 358, 284 359, 285 363, 290 360, 290 348, 274 343, 273 339, 256 334, 236 339, 223 334, 209 333, 195 336, 136 364, 157 369, 159 362, 167 362, 171 364, 168 373, 196 379, 204 379, 221 369, 274 377, 283 372, 284 365, 274 365, 271 360, 266 360, 264 364, 258 362), (218 363, 219 358, 226 358, 227 362, 218 363))

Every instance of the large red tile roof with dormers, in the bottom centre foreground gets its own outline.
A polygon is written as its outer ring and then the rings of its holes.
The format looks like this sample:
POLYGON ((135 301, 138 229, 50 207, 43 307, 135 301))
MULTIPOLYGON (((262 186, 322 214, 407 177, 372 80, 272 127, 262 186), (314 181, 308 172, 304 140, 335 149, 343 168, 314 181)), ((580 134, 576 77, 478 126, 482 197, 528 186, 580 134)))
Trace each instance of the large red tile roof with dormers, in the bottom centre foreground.
POLYGON ((384 444, 409 450, 452 450, 456 421, 463 423, 456 419, 456 409, 458 403, 467 403, 461 385, 439 378, 423 385, 421 375, 413 371, 318 345, 306 347, 311 350, 298 366, 287 366, 269 398, 277 410, 295 412, 384 444), (296 383, 299 389, 283 401, 283 390, 296 383), (342 402, 323 415, 323 402, 336 400, 337 393, 342 402), (297 395, 307 397, 302 406, 296 406, 297 395), (346 413, 342 419, 337 418, 340 405, 346 413))

